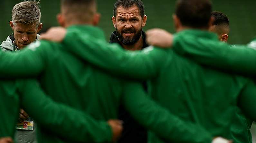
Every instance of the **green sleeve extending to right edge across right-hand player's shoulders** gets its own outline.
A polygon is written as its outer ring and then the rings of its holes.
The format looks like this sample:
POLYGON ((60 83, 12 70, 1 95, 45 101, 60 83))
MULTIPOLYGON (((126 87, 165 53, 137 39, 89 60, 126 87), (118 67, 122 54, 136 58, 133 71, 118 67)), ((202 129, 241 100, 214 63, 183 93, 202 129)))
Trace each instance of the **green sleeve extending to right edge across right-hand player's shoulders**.
POLYGON ((245 45, 175 37, 173 49, 196 62, 222 70, 255 75, 256 50, 245 45))

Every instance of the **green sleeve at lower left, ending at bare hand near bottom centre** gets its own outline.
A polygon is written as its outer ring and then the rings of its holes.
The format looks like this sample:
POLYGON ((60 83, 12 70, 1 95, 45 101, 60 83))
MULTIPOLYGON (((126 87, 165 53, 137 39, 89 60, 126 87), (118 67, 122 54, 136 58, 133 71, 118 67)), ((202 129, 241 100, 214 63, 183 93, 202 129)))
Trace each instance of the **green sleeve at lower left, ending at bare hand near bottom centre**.
POLYGON ((106 121, 95 121, 82 111, 54 102, 35 80, 21 81, 19 93, 21 107, 61 138, 73 142, 111 142, 112 129, 106 121))

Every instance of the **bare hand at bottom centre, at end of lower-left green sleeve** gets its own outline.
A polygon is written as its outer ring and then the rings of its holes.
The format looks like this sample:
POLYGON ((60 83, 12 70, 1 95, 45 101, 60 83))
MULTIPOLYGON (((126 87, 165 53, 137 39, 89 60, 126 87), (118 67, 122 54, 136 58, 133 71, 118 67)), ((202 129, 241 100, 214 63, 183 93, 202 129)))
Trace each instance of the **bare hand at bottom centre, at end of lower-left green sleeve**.
POLYGON ((122 131, 123 131, 122 124, 123 124, 123 122, 120 121, 120 120, 109 120, 108 124, 112 128, 112 131, 113 131, 113 138, 112 139, 113 139, 114 142, 116 142, 122 134, 122 131))

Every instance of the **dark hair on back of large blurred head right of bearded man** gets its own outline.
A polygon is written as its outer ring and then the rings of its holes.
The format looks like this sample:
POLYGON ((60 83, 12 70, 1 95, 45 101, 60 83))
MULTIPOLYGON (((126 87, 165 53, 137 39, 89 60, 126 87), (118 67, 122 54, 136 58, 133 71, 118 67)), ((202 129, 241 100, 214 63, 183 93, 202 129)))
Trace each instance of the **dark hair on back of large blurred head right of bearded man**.
POLYGON ((183 26, 192 28, 208 27, 212 3, 209 0, 178 0, 176 15, 183 26))

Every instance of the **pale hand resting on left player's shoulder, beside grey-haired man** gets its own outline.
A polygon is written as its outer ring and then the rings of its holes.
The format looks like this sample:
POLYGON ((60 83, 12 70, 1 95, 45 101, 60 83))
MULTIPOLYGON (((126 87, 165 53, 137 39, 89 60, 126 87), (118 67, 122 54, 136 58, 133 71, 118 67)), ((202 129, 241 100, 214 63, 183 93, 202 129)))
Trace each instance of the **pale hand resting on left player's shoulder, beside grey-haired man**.
POLYGON ((62 27, 52 27, 46 33, 41 34, 40 39, 54 41, 54 42, 62 42, 65 38, 67 30, 62 27))

